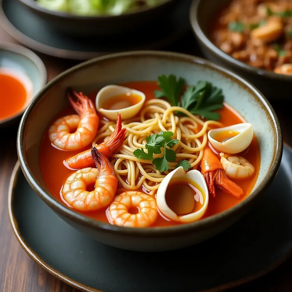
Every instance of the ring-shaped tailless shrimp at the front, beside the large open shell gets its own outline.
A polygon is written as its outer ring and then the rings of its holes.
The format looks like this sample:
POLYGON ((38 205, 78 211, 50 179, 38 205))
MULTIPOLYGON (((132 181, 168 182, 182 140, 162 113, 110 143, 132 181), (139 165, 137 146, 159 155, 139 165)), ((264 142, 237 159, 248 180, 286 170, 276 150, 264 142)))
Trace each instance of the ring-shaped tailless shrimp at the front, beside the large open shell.
POLYGON ((142 192, 129 191, 114 197, 109 206, 109 217, 114 225, 127 227, 147 227, 158 215, 156 201, 142 192), (138 207, 137 214, 129 213, 129 209, 138 207))

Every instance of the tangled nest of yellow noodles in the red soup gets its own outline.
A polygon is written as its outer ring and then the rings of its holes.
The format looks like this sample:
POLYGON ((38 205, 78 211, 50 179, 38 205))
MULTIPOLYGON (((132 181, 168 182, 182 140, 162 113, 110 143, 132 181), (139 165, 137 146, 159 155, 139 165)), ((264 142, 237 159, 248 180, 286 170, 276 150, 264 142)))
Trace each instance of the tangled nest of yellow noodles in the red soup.
MULTIPOLYGON (((97 136, 92 142, 101 143, 109 139, 114 131, 115 123, 101 120, 97 136)), ((114 166, 119 183, 129 189, 137 190, 141 186, 146 188, 146 192, 154 195, 160 182, 173 169, 180 160, 187 160, 193 169, 197 168, 203 157, 203 150, 207 144, 207 130, 209 125, 222 126, 217 121, 202 121, 182 107, 172 107, 168 102, 161 99, 152 99, 145 103, 140 116, 122 122, 126 128, 126 139, 114 154, 110 161, 114 166), (176 115, 177 111, 185 116, 176 115), (199 130, 200 128, 200 130, 199 130), (160 173, 151 160, 138 159, 133 151, 137 148, 145 148, 146 137, 159 133, 160 131, 171 131, 173 139, 178 139, 179 143, 171 149, 176 153, 176 161, 168 162, 169 169, 160 173)), ((153 157, 162 157, 161 154, 153 154, 153 157)))

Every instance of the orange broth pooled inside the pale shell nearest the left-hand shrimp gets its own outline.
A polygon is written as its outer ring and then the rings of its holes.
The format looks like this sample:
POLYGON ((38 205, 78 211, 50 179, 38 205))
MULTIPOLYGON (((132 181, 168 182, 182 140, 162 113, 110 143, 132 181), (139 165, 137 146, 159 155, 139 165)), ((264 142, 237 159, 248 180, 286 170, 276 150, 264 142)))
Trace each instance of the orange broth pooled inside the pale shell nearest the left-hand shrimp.
POLYGON ((119 95, 114 95, 108 100, 105 100, 105 102, 102 104, 102 108, 107 110, 124 109, 126 107, 136 105, 140 101, 140 95, 127 92, 119 95))

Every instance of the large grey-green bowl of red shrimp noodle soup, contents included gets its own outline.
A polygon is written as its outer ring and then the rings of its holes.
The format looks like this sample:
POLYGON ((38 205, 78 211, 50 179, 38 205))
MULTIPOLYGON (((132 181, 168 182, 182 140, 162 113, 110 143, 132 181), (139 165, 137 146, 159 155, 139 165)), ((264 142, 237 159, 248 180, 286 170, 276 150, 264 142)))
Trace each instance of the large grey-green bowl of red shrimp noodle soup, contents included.
POLYGON ((22 117, 17 150, 29 184, 69 225, 110 246, 166 251, 246 213, 273 180, 283 142, 274 110, 246 80, 198 57, 134 51, 49 82, 22 117), (116 117, 95 107, 102 88, 116 117))

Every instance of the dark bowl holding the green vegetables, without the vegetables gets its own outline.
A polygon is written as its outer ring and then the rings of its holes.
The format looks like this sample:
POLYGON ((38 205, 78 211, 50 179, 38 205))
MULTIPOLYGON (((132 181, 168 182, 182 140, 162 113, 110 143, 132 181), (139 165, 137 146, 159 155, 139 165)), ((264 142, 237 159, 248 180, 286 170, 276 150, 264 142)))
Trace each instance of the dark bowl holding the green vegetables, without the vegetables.
POLYGON ((82 16, 48 10, 41 7, 35 0, 18 1, 32 13, 46 20, 48 25, 66 34, 72 36, 109 35, 109 38, 134 31, 139 33, 140 29, 148 27, 158 20, 164 21, 180 2, 180 0, 166 0, 152 8, 142 8, 139 11, 122 15, 82 16))

